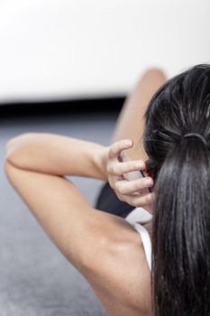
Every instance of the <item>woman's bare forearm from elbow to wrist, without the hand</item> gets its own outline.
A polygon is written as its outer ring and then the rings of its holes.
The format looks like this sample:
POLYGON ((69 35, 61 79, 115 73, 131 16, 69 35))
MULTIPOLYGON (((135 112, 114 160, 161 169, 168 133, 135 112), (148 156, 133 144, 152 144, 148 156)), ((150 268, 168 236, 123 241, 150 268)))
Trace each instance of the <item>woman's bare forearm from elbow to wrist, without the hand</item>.
POLYGON ((23 134, 8 142, 6 160, 24 170, 106 181, 96 154, 103 147, 63 135, 23 134))

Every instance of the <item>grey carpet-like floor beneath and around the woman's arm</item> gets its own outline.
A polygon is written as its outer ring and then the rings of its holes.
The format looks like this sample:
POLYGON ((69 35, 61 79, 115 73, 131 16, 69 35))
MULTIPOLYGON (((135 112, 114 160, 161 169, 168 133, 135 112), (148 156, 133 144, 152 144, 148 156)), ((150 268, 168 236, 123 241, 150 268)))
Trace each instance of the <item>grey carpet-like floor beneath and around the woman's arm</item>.
MULTIPOLYGON (((109 144, 116 114, 0 119, 0 316, 105 315, 84 277, 41 230, 5 179, 5 144, 14 135, 46 132, 109 144)), ((102 182, 74 178, 94 204, 102 182)))

